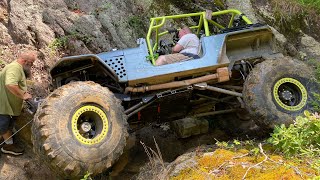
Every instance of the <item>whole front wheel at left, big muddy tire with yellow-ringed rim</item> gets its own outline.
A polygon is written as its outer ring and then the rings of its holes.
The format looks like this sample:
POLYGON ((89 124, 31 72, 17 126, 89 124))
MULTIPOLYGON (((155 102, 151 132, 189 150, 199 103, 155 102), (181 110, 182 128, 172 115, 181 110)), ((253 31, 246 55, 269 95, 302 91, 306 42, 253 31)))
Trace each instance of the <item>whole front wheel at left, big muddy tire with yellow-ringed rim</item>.
POLYGON ((41 103, 32 125, 34 151, 71 179, 111 167, 127 136, 120 101, 94 82, 71 82, 55 90, 41 103))

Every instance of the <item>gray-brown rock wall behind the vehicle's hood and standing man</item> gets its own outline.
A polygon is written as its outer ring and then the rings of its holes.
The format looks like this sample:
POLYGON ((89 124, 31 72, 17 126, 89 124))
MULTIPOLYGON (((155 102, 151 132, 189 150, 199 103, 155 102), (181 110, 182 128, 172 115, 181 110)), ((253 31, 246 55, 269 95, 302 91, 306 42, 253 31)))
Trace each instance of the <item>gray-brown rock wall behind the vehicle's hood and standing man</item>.
MULTIPOLYGON (((215 7, 213 0, 2 0, 0 70, 20 52, 37 50, 28 88, 33 97, 46 97, 48 71, 62 56, 135 47, 136 39, 146 36, 150 17, 215 7)), ((18 128, 30 118, 20 116, 18 128)), ((21 135, 30 143, 27 127, 21 135)))

